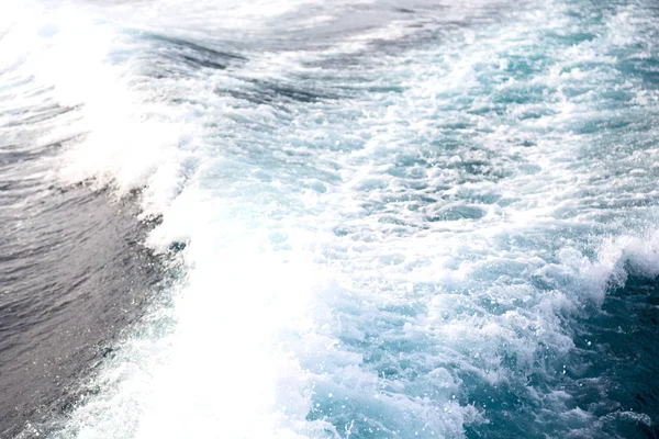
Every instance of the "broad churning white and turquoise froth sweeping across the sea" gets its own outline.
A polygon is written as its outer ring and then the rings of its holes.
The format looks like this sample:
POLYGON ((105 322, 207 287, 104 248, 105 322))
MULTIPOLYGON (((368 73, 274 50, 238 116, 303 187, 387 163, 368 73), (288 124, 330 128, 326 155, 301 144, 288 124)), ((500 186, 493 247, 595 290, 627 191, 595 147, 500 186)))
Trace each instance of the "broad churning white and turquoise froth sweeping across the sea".
MULTIPOLYGON (((618 81, 607 50, 634 43, 624 31, 634 11, 541 54, 545 35, 577 25, 566 7, 481 25, 490 10, 478 2, 447 7, 434 23, 439 47, 369 57, 421 33, 400 20, 322 47, 245 48, 226 70, 148 76, 153 42, 135 30, 199 40, 222 27, 264 41, 270 23, 304 8, 320 12, 301 29, 335 16, 311 1, 199 2, 174 14, 182 4, 64 8, 43 19, 56 26, 35 43, 43 56, 20 67, 80 106, 75 123, 44 133, 70 144, 63 181, 92 178, 119 195, 143 188, 145 215, 163 215, 147 244, 188 244, 171 307, 124 341, 98 378, 100 395, 58 437, 461 437, 489 420, 460 376, 504 385, 545 350, 567 357, 566 319, 601 304, 625 263, 659 273, 657 236, 615 222, 639 196, 656 198, 657 149, 638 153, 636 177, 613 181, 615 170, 588 158, 596 142, 579 133, 616 111, 597 108, 608 83, 651 104, 651 92, 618 81), (444 31, 449 19, 466 24, 444 31), (333 67, 348 56, 361 56, 359 67, 333 67), (511 74, 534 57, 526 77, 511 74), (268 91, 273 101, 258 101, 268 91), (636 199, 625 184, 640 185, 636 199)), ((556 406, 568 397, 528 392, 556 406)))

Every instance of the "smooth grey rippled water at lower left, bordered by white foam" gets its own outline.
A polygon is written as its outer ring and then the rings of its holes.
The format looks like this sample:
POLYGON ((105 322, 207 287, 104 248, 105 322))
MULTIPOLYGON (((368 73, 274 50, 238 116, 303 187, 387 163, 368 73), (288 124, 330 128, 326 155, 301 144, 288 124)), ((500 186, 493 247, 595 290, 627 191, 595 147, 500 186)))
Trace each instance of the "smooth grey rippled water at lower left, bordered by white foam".
POLYGON ((135 200, 83 185, 32 191, 38 183, 5 181, 0 198, 2 438, 70 408, 79 380, 164 278, 141 244, 152 224, 136 219, 135 200), (7 194, 21 190, 16 205, 7 194))

